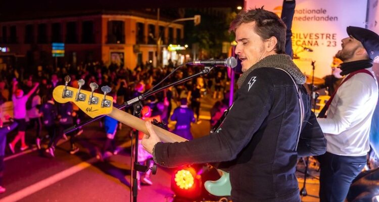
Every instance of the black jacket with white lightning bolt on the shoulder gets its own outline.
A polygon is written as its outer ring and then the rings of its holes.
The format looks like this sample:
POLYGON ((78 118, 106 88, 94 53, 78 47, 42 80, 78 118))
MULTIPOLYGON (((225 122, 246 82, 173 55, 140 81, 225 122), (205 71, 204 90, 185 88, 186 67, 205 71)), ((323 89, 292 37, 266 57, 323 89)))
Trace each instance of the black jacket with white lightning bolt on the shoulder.
POLYGON ((188 163, 228 162, 231 197, 235 201, 298 201, 295 176, 298 153, 325 153, 323 133, 310 112, 297 147, 300 123, 298 93, 291 77, 275 68, 247 75, 218 133, 187 142, 158 143, 157 163, 175 167, 188 163), (314 144, 316 144, 314 146, 314 144))

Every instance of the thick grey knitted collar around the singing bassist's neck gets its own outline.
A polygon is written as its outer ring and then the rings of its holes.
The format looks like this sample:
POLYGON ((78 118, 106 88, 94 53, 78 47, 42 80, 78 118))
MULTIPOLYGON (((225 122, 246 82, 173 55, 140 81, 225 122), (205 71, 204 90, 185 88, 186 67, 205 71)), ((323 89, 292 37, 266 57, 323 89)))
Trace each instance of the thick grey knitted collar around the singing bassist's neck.
POLYGON ((250 67, 246 72, 244 72, 238 79, 238 87, 241 88, 246 77, 255 69, 266 67, 266 68, 279 68, 287 71, 296 81, 297 84, 304 84, 307 77, 300 71, 300 69, 292 61, 291 57, 285 54, 277 54, 267 56, 263 58, 258 63, 250 67))

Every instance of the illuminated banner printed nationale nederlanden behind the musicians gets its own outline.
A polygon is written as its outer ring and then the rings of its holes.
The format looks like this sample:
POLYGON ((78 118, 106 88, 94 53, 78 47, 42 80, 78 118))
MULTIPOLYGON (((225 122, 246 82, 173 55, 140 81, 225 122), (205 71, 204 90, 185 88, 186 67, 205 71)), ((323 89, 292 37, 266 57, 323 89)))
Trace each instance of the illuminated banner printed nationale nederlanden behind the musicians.
MULTIPOLYGON (((282 0, 245 0, 245 9, 261 8, 281 15, 282 0)), ((307 75, 322 78, 331 73, 333 56, 348 37, 347 26, 365 27, 366 0, 297 0, 292 23, 294 62, 307 75), (312 51, 312 52, 310 52, 312 51)))

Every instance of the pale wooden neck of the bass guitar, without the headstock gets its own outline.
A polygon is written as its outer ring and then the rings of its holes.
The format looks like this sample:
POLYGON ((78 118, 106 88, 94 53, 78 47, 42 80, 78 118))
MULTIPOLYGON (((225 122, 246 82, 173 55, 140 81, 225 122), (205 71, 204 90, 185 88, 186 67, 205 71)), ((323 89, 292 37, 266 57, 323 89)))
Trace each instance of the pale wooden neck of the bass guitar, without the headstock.
MULTIPOLYGON (((137 118, 137 117, 135 117, 129 113, 126 113, 122 110, 119 110, 119 109, 113 107, 112 112, 110 114, 108 114, 107 116, 110 116, 110 117, 116 119, 117 121, 131 127, 131 128, 135 128, 135 129, 137 129, 137 130, 139 130, 145 134, 149 134, 148 129, 145 126, 145 121, 142 119, 139 119, 139 118, 137 118)), ((163 142, 187 141, 187 139, 180 137, 178 135, 175 135, 174 133, 169 132, 169 131, 167 131, 163 128, 160 128, 158 126, 153 125, 153 128, 154 128, 154 131, 157 133, 157 135, 159 136, 159 138, 163 142)))

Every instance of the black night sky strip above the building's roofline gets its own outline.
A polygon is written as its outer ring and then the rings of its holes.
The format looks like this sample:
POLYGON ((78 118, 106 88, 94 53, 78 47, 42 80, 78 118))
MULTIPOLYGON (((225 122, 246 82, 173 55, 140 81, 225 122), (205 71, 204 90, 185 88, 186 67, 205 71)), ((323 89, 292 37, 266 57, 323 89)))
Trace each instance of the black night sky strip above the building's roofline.
POLYGON ((243 6, 243 0, 2 0, 0 1, 0 21, 13 21, 33 18, 46 18, 62 15, 75 15, 79 11, 127 11, 146 8, 236 8, 243 6))

